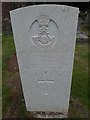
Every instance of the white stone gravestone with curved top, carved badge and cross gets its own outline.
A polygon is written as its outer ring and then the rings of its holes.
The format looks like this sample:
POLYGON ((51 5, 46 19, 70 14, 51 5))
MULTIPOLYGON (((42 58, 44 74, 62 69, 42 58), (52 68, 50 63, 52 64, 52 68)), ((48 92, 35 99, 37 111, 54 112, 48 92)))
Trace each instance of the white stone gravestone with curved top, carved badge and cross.
POLYGON ((28 111, 68 113, 78 13, 64 5, 10 12, 28 111))

